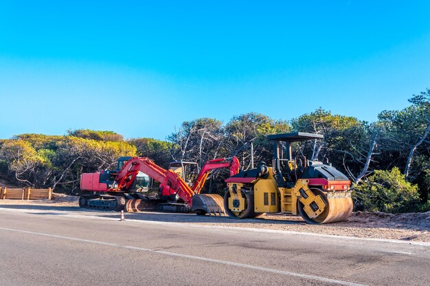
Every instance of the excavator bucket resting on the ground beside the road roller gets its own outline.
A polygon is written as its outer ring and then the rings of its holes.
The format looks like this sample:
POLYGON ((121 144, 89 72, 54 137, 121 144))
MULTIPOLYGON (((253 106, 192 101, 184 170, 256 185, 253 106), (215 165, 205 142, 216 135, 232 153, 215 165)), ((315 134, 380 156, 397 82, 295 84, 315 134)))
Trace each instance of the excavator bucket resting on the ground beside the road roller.
POLYGON ((220 195, 199 194, 192 197, 192 212, 199 215, 225 215, 224 199, 220 195))

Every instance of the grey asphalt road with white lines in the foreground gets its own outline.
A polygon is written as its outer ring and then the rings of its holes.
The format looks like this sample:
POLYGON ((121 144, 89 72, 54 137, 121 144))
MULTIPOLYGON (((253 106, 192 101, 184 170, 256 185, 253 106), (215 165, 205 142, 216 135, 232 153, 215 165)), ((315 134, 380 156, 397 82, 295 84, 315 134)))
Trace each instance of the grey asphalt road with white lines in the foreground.
POLYGON ((430 244, 0 210, 0 285, 429 285, 430 244))

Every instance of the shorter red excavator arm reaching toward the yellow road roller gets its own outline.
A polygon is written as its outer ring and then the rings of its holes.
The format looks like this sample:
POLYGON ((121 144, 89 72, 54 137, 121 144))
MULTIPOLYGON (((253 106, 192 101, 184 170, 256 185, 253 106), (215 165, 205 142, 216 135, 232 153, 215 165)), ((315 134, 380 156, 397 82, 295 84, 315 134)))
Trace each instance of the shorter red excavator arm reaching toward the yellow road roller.
POLYGON ((231 177, 239 173, 240 163, 236 156, 233 156, 231 158, 218 158, 207 161, 206 164, 201 168, 199 177, 197 177, 196 181, 191 187, 194 193, 199 194, 201 188, 205 186, 205 182, 207 176, 210 173, 210 170, 218 168, 229 168, 231 177))

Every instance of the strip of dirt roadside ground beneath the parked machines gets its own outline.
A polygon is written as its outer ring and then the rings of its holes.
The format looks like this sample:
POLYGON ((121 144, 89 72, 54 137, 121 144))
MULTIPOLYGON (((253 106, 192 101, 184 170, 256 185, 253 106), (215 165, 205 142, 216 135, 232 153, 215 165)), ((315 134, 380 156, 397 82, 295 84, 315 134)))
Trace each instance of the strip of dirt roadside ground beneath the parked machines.
MULTIPOLYGON (((16 200, 0 199, 0 208, 40 210, 46 212, 67 212, 100 217, 118 217, 116 212, 84 210, 78 206, 78 197, 54 194, 54 199, 16 200)), ((168 221, 190 223, 192 225, 220 225, 225 227, 264 228, 270 230, 290 230, 313 232, 339 236, 355 236, 373 239, 398 239, 403 241, 430 242, 430 212, 385 214, 382 212, 353 212, 347 221, 326 225, 309 225, 301 217, 283 214, 265 214, 257 219, 229 219, 228 217, 197 216, 167 212, 126 213, 126 219, 144 221, 168 221)))

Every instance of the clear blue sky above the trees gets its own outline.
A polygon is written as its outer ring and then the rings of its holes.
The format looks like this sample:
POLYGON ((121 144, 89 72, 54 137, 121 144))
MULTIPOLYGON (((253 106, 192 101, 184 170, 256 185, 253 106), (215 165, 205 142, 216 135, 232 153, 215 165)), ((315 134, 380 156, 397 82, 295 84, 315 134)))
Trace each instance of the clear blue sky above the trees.
POLYGON ((3 0, 0 138, 164 139, 184 120, 318 107, 373 121, 430 87, 429 14, 430 1, 3 0))

